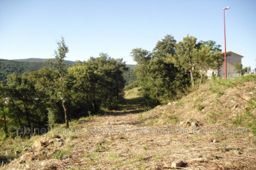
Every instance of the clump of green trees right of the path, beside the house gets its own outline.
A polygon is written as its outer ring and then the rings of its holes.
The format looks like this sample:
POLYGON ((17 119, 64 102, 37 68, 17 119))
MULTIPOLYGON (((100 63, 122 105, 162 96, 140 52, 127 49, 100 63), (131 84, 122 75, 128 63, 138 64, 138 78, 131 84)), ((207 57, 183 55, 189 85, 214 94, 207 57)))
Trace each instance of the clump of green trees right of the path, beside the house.
POLYGON ((153 53, 133 49, 131 55, 137 62, 136 85, 145 104, 154 106, 177 98, 190 84, 195 84, 198 75, 201 84, 208 69, 218 69, 222 64, 219 48, 215 41, 197 42, 197 38, 187 36, 176 43, 172 35, 166 35, 158 41, 153 53))

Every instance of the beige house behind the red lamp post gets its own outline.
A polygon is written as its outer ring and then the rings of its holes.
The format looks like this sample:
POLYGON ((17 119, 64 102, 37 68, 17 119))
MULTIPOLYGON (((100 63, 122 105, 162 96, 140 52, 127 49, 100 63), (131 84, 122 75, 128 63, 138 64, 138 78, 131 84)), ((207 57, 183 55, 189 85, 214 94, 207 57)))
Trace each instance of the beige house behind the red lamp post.
MULTIPOLYGON (((224 54, 224 52, 222 53, 224 54)), ((242 58, 244 56, 241 56, 240 54, 236 54, 235 52, 227 52, 227 78, 237 78, 239 76, 239 73, 236 73, 235 64, 236 63, 242 63, 242 58)), ((223 65, 221 65, 221 68, 216 70, 208 70, 208 77, 211 78, 212 74, 215 75, 221 75, 221 77, 225 77, 225 62, 223 62, 223 65)))

